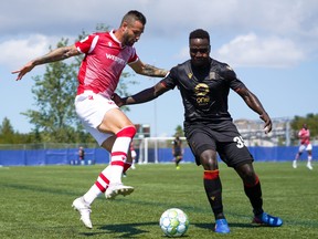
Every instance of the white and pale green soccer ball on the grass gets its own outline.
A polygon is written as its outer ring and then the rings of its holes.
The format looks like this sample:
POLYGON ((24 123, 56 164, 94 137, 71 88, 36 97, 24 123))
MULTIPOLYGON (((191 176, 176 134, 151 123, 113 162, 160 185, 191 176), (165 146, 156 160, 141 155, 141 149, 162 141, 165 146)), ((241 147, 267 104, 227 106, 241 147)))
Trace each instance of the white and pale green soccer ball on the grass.
POLYGON ((161 215, 159 225, 166 236, 181 237, 189 228, 189 219, 181 209, 170 208, 161 215))

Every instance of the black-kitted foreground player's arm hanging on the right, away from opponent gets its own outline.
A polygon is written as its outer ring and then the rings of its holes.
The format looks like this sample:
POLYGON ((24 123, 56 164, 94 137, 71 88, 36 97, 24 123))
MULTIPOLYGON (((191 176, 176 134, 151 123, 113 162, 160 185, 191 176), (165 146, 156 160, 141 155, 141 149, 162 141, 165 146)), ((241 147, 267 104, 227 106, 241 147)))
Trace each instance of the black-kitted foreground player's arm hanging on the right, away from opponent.
POLYGON ((248 107, 256 112, 259 115, 259 118, 265 122, 265 133, 269 133, 272 131, 272 119, 256 95, 254 95, 247 87, 239 89, 236 92, 248 107))

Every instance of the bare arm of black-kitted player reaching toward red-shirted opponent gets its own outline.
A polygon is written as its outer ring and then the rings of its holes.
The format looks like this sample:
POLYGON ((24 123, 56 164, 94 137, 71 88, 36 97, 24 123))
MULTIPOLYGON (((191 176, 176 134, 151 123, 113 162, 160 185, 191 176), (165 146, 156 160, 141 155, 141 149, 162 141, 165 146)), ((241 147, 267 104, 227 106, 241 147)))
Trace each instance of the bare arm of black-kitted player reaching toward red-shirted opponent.
POLYGON ((120 107, 123 105, 141 104, 152 101, 169 90, 170 89, 167 89, 161 82, 159 82, 152 87, 140 91, 131 96, 121 98, 119 95, 114 94, 112 98, 120 107))

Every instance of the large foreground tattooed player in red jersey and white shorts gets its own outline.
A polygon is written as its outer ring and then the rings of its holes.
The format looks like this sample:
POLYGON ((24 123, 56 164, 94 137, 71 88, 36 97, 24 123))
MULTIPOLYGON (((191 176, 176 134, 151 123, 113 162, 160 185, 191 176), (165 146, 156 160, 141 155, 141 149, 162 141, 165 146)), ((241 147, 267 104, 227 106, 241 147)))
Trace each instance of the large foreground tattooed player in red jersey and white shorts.
POLYGON ((73 45, 57 48, 12 71, 18 73, 18 81, 36 65, 85 54, 78 72, 76 113, 84 127, 112 154, 110 164, 88 191, 72 205, 80 211, 81 220, 87 228, 93 228, 91 204, 100 194, 105 193, 106 198, 112 199, 134 191, 132 187, 123 185, 121 174, 131 166, 128 150, 136 128, 112 100, 124 67, 128 64, 136 73, 147 76, 162 77, 168 73, 142 63, 132 46, 140 39, 145 24, 145 15, 131 10, 124 15, 118 29, 91 34, 73 45))

